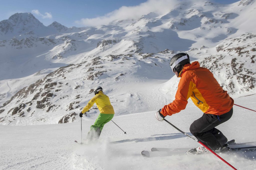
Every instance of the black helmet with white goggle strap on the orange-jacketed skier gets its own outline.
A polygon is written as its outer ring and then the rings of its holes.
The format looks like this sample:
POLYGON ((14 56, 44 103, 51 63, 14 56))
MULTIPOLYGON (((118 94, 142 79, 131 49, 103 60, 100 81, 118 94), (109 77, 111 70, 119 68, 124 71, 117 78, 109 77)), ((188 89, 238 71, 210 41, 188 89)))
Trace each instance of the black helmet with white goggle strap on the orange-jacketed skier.
POLYGON ((182 66, 185 64, 189 64, 189 55, 187 53, 178 53, 175 54, 171 61, 170 61, 170 67, 172 68, 173 72, 180 73, 182 70, 182 66))

